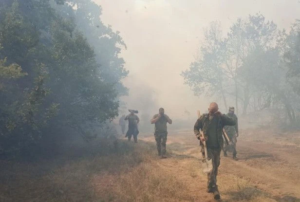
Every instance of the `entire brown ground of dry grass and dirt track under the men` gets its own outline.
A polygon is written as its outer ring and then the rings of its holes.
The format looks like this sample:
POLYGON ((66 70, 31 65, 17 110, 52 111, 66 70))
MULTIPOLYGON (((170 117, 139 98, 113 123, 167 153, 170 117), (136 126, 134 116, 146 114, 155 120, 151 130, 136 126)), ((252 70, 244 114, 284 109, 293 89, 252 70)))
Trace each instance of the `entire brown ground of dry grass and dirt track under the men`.
MULTIPOLYGON (((52 159, 0 162, 1 202, 213 202, 190 130, 169 132, 168 159, 154 137, 71 146, 52 159)), ((239 161, 221 155, 221 202, 300 202, 300 132, 240 131, 239 161)))

